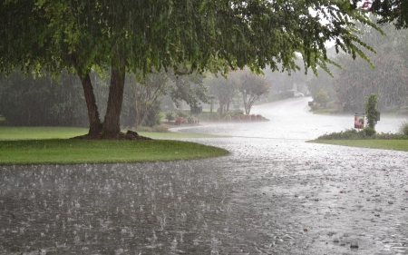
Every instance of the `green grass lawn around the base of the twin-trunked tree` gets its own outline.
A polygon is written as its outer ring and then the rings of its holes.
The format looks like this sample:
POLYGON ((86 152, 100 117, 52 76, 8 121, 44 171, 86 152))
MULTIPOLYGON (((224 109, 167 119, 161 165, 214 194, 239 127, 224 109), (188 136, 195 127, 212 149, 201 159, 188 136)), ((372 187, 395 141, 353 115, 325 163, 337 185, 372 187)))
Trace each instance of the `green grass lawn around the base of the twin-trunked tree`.
POLYGON ((0 126, 0 164, 157 162, 227 155, 228 151, 178 138, 201 134, 140 132, 152 141, 73 140, 87 129, 0 126))

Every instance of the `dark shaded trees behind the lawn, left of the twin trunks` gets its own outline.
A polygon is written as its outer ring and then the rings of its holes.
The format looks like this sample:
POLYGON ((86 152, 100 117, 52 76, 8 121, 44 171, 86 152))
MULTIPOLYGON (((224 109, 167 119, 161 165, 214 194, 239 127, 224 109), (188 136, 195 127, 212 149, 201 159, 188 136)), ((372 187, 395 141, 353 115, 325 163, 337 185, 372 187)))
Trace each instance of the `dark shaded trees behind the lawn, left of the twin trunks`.
POLYGON ((86 126, 81 89, 78 77, 66 72, 57 81, 16 70, 0 77, 0 113, 18 126, 86 126))

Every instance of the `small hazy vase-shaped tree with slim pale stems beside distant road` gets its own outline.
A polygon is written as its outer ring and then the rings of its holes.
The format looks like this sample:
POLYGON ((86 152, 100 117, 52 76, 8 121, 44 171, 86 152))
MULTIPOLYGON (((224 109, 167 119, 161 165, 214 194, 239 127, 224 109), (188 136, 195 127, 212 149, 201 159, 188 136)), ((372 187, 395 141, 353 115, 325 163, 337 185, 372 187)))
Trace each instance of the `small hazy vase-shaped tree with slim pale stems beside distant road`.
POLYGON ((262 75, 251 74, 248 71, 240 73, 241 82, 238 84, 238 91, 242 94, 245 113, 251 112, 252 105, 261 97, 269 93, 269 84, 262 75))

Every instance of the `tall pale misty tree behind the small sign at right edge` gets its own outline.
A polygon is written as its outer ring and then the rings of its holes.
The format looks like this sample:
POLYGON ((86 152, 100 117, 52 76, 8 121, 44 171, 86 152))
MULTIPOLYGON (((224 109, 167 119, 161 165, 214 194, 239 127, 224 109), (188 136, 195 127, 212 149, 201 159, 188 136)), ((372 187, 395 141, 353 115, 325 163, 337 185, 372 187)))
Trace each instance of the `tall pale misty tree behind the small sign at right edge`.
POLYGON ((376 49, 376 54, 367 53, 374 69, 345 54, 336 59, 344 69, 334 72, 332 85, 337 103, 344 105, 346 112, 363 112, 364 97, 371 93, 381 97, 378 105, 381 111, 408 103, 408 31, 395 31, 393 25, 383 25, 382 29, 386 36, 370 29, 361 35, 362 40, 371 42, 376 49))

